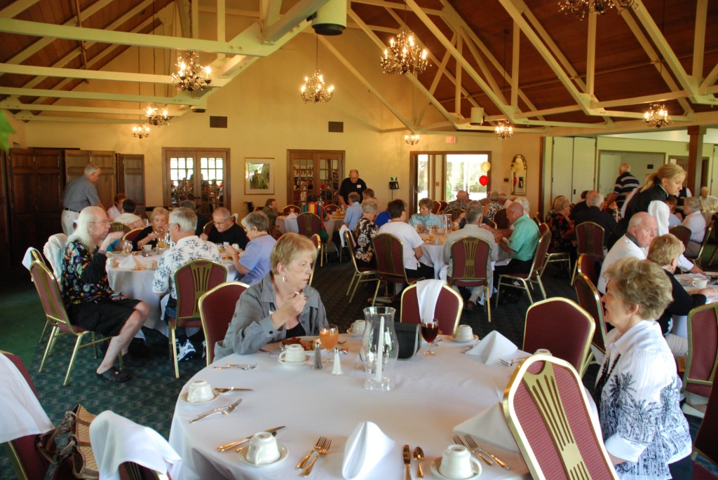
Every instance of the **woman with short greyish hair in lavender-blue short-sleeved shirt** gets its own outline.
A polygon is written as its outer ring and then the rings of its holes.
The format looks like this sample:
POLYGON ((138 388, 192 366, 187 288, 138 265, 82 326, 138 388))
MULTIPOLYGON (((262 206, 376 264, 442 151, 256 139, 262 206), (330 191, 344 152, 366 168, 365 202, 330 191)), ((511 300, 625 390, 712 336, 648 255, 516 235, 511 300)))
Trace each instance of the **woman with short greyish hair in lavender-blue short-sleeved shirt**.
POLYGON ((269 235, 269 217, 264 212, 251 212, 242 219, 241 224, 247 231, 247 249, 239 253, 232 246, 225 245, 225 252, 232 255, 240 280, 254 285, 271 270, 269 257, 276 240, 269 235))

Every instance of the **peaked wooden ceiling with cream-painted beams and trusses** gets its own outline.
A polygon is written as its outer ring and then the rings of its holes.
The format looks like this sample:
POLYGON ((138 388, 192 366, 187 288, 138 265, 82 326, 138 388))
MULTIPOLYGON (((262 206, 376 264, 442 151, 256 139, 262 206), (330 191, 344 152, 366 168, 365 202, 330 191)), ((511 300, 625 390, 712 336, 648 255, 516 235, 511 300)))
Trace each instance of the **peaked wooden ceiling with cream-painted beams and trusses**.
MULTIPOLYGON (((182 115, 309 29, 307 17, 327 1, 0 0, 0 108, 25 121, 129 123, 141 102, 182 115), (230 34, 237 17, 247 26, 230 34), (208 29, 192 29, 208 18, 216 24, 211 37, 208 29), (223 32, 226 40, 217 40, 223 32), (156 63, 111 70, 131 47, 153 57, 157 50, 211 55, 211 88, 178 92, 156 63), (134 85, 136 93, 108 87, 116 83, 134 85)), ((347 27, 376 44, 370 55, 381 55, 404 22, 429 50, 426 72, 405 75, 426 106, 406 115, 396 104, 401 99, 381 95, 375 72, 348 70, 413 131, 488 131, 504 119, 519 133, 637 131, 647 129, 641 119, 656 102, 666 105, 673 127, 718 125, 717 1, 636 0, 633 8, 584 19, 558 4, 353 0, 347 27), (475 107, 483 109, 483 123, 471 121, 475 107)), ((332 38, 320 37, 327 47, 332 38)), ((348 52, 332 52, 350 64, 348 52)))

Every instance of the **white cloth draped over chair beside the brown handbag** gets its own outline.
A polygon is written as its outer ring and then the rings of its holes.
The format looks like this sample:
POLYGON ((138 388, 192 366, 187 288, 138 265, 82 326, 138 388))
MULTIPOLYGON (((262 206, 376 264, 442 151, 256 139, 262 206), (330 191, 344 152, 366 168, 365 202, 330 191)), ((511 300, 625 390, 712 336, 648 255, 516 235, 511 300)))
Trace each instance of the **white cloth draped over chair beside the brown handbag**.
POLYGON ((119 480, 119 466, 131 461, 180 478, 182 458, 167 440, 149 427, 105 410, 90 423, 90 442, 100 480, 119 480))

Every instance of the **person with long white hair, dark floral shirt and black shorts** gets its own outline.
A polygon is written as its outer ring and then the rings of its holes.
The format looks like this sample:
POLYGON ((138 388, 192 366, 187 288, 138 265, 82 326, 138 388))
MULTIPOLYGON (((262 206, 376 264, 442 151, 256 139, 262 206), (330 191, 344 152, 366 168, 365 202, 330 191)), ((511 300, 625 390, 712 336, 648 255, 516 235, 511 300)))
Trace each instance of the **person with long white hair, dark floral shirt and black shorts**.
POLYGON ((126 355, 149 309, 131 298, 113 297, 105 265, 107 248, 122 236, 110 231, 110 219, 100 207, 85 207, 78 226, 67 238, 62 258, 62 301, 70 323, 112 337, 95 374, 108 382, 126 382, 131 375, 114 367, 118 354, 131 367, 140 363, 126 355))

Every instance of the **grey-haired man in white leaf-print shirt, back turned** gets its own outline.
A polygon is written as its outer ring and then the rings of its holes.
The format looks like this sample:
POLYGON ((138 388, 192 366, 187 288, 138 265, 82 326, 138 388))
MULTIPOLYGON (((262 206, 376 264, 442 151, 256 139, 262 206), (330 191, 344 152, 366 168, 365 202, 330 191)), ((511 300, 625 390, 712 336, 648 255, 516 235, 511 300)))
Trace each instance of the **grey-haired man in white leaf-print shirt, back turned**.
MULTIPOLYGON (((169 238, 174 247, 162 254, 154 272, 152 291, 157 296, 165 296, 169 292, 169 301, 164 310, 167 317, 177 316, 177 286, 174 285, 174 270, 185 263, 198 258, 205 258, 221 263, 219 250, 214 243, 201 240, 195 235, 197 215, 188 208, 175 208, 169 212, 169 238)), ((175 347, 179 349, 177 360, 184 362, 195 356, 195 346, 190 342, 185 329, 177 329, 175 347)))

